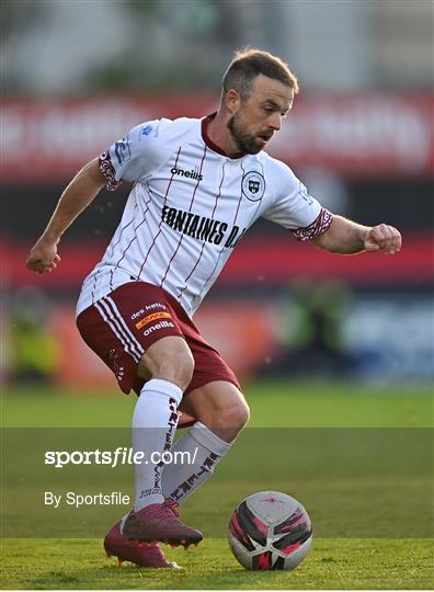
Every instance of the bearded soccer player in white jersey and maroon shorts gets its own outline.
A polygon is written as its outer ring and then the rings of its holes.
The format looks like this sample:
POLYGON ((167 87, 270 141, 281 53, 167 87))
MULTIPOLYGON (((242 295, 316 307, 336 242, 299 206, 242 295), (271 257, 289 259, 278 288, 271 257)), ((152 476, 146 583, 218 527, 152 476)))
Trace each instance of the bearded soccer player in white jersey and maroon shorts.
POLYGON ((197 452, 194 466, 135 466, 134 508, 105 537, 119 559, 175 567, 159 542, 202 539, 181 522, 178 505, 212 476, 249 419, 237 377, 192 321, 247 229, 263 217, 334 253, 401 248, 396 228, 333 216, 263 151, 297 92, 278 57, 237 53, 217 113, 134 127, 72 179, 30 252, 30 270, 54 271, 60 237, 100 190, 134 183, 102 261, 84 280, 77 325, 121 389, 138 395, 134 451, 146 458, 197 452), (194 423, 172 446, 180 411, 194 423))

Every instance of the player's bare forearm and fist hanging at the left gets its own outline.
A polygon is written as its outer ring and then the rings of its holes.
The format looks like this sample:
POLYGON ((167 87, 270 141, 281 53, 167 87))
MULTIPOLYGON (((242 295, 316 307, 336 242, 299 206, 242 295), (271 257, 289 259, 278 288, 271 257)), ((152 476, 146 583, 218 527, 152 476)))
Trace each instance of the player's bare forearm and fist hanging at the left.
POLYGON ((26 266, 37 273, 52 272, 60 257, 57 244, 61 235, 96 197, 106 179, 100 171, 99 159, 88 162, 72 179, 60 196, 57 207, 41 238, 32 248, 26 266))

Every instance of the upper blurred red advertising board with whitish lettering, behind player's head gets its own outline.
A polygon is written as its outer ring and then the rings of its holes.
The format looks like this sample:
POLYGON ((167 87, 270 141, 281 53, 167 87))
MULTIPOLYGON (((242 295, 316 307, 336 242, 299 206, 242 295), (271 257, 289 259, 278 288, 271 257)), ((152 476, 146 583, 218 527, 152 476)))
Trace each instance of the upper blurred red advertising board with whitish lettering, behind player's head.
MULTIPOLYGON (((91 96, 2 102, 2 178, 65 181, 141 122, 202 117, 216 95, 91 96)), ((367 93, 296 99, 270 153, 293 167, 347 178, 426 177, 434 170, 433 94, 367 93)))

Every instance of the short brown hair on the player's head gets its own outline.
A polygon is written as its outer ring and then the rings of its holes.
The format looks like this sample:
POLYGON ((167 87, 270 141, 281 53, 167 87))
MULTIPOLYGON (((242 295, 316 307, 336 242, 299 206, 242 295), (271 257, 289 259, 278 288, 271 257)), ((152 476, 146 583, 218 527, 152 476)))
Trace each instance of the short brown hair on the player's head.
POLYGON ((259 75, 279 80, 297 94, 298 80, 279 57, 260 49, 245 48, 235 53, 233 59, 222 79, 222 92, 237 90, 242 100, 249 98, 253 80, 259 75))

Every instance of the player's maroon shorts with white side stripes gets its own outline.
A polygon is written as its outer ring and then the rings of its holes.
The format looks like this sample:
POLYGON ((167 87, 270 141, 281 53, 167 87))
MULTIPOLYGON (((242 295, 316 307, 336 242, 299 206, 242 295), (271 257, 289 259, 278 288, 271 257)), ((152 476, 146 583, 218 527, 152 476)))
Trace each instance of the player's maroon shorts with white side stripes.
POLYGON ((226 380, 241 390, 233 371, 201 335, 180 304, 162 288, 146 282, 128 282, 83 310, 77 327, 85 343, 113 371, 126 394, 140 394, 144 380, 136 376, 140 356, 168 335, 183 338, 195 361, 185 392, 214 380, 226 380))

